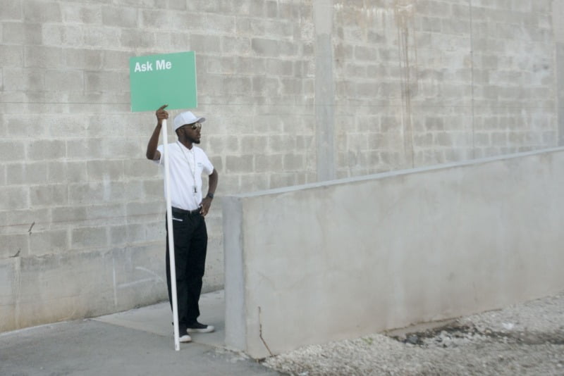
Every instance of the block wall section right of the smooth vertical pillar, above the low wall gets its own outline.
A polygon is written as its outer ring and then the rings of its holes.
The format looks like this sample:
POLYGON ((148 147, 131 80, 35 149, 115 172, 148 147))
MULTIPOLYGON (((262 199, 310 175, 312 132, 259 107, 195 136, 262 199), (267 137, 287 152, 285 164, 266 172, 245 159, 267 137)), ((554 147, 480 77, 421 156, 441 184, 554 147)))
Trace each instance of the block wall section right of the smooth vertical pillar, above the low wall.
POLYGON ((334 1, 336 175, 558 145, 557 3, 334 1))

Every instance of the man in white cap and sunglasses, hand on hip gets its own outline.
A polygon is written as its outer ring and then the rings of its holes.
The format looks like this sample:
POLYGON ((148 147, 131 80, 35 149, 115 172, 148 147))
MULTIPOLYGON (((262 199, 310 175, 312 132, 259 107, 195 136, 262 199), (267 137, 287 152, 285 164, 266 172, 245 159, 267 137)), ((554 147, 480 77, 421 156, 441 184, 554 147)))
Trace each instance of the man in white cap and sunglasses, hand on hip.
MULTIPOLYGON (((172 204, 172 223, 174 236, 174 258, 176 261, 176 293, 178 298, 178 328, 180 342, 190 342, 189 332, 213 332, 212 325, 197 321, 200 316, 198 301, 202 292, 202 277, 206 262, 207 229, 204 216, 212 205, 217 187, 218 174, 207 158, 206 153, 195 144, 200 144, 202 123, 190 111, 180 113, 174 118, 174 130, 178 141, 168 144, 168 156, 164 155, 164 145, 159 143, 159 134, 168 105, 156 112, 157 127, 147 144, 147 158, 164 164, 168 158, 170 168, 170 190, 172 204), (209 175, 208 192, 202 199, 202 173, 209 175)), ((166 140, 165 140, 166 141, 166 140)), ((168 258, 168 227, 166 237, 166 283, 168 300, 172 306, 171 268, 168 258)))

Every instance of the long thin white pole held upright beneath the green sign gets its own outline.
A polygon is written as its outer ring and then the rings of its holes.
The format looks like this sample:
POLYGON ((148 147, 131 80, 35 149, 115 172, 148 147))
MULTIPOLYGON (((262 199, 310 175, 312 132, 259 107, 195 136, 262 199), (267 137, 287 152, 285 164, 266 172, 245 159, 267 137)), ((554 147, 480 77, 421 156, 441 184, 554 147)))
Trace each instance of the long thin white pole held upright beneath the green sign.
POLYGON ((171 295, 172 315, 174 325, 174 349, 180 351, 180 337, 178 335, 178 299, 176 296, 176 261, 174 260, 174 232, 172 228, 172 204, 171 185, 168 177, 171 176, 168 168, 168 132, 166 130, 166 119, 162 122, 163 146, 164 146, 164 189, 166 191, 166 227, 168 228, 168 259, 171 264, 171 295))

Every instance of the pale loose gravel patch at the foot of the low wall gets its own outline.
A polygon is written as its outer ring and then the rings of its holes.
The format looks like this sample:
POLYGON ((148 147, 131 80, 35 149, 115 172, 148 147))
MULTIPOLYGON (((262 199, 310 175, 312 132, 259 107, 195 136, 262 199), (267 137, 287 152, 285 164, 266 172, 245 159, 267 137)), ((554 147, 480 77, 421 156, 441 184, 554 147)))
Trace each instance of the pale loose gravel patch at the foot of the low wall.
POLYGON ((289 375, 564 375, 564 292, 396 336, 305 346, 267 358, 289 375))

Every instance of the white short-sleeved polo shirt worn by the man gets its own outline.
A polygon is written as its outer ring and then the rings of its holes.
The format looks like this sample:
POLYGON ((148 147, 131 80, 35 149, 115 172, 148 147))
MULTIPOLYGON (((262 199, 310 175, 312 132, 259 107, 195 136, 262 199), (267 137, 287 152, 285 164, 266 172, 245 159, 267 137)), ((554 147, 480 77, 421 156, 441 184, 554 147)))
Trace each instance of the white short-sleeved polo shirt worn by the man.
MULTIPOLYGON (((161 159, 155 161, 164 166, 164 145, 159 145, 157 150, 161 159)), ((202 202, 202 173, 211 175, 214 165, 207 158, 206 153, 192 144, 188 149, 180 142, 168 144, 168 166, 170 169, 171 204, 175 208, 193 211, 202 202)), ((166 187, 164 192, 166 198, 166 187)))

